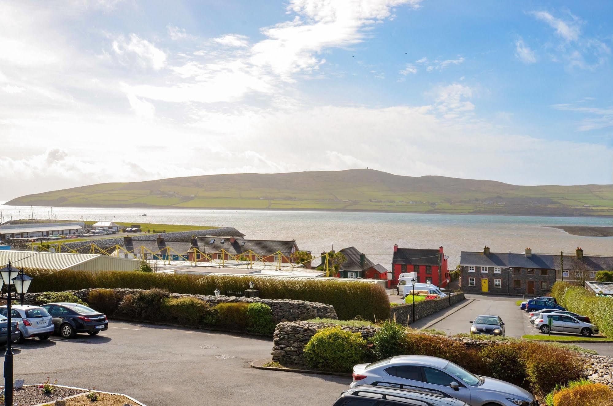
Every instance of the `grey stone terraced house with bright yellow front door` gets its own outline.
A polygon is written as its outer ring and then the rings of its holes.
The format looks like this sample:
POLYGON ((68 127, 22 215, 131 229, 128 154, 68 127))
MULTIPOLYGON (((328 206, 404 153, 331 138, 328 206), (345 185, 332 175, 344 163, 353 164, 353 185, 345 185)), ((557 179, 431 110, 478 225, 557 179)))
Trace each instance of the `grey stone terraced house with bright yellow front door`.
POLYGON ((556 280, 555 255, 462 251, 462 291, 466 293, 527 294, 549 293, 556 280))

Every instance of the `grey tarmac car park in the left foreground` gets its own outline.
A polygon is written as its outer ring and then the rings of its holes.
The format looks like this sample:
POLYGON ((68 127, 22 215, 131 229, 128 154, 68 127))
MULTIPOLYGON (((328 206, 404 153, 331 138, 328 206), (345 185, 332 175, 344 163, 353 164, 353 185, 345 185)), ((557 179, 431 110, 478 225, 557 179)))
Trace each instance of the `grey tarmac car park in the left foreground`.
POLYGON ((249 368, 249 362, 270 357, 269 338, 111 322, 96 337, 26 341, 15 351, 15 378, 26 384, 50 377, 61 385, 126 393, 153 406, 328 406, 351 383, 249 368))

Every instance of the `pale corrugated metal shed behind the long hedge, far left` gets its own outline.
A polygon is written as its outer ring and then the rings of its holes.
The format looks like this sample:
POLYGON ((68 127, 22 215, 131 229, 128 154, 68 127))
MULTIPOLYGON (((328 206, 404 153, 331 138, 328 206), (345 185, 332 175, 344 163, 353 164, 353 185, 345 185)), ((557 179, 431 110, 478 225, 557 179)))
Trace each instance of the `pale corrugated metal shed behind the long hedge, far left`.
POLYGON ((135 270, 139 261, 101 254, 73 254, 39 251, 0 251, 0 267, 8 263, 18 268, 55 270, 135 270))

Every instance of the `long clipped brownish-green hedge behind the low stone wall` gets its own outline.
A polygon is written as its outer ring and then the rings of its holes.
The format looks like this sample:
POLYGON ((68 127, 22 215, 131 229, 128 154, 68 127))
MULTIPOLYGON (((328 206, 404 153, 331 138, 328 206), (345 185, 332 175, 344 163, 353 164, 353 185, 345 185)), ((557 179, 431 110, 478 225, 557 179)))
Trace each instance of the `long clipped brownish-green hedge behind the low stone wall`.
POLYGON ((145 272, 82 270, 50 271, 29 269, 34 278, 30 292, 65 291, 88 288, 161 288, 174 293, 213 294, 219 289, 244 291, 253 280, 264 299, 295 299, 333 305, 338 318, 351 320, 386 320, 389 299, 384 288, 373 283, 331 282, 324 280, 274 280, 272 278, 167 275, 145 272))

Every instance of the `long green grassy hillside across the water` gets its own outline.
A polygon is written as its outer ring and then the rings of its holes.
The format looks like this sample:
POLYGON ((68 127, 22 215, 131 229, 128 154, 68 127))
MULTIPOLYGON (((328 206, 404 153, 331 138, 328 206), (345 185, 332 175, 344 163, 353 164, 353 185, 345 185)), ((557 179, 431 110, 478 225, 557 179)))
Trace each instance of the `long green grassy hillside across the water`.
POLYGON ((6 204, 612 216, 613 185, 516 186, 351 169, 101 183, 29 194, 6 204))

